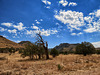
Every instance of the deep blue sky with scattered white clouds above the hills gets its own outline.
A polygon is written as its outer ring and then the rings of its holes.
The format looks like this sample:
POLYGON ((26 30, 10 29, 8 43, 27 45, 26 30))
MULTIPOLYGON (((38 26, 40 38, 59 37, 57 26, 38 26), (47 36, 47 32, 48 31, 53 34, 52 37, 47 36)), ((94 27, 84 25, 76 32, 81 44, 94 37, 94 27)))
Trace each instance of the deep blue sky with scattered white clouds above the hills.
POLYGON ((39 32, 49 48, 82 41, 100 47, 100 0, 0 0, 0 35, 35 42, 39 32))

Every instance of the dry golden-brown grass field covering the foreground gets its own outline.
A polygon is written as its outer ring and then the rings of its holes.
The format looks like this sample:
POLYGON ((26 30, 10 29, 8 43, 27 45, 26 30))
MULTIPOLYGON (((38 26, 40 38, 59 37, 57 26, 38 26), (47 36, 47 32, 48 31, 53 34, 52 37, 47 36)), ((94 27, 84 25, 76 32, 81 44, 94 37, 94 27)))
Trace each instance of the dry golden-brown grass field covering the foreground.
POLYGON ((50 58, 31 61, 18 53, 0 54, 0 75, 100 75, 100 55, 70 54, 50 58))

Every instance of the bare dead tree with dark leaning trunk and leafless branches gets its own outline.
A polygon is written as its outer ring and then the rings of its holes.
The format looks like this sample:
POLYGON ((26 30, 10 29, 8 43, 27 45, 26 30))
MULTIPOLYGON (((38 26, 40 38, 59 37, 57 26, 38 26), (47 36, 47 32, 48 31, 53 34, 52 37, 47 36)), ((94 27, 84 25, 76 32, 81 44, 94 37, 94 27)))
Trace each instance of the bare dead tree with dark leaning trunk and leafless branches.
POLYGON ((49 54, 48 54, 48 43, 47 42, 44 42, 41 34, 37 34, 37 41, 36 41, 36 44, 37 45, 40 45, 44 48, 45 50, 45 55, 46 55, 46 59, 49 59, 49 54))

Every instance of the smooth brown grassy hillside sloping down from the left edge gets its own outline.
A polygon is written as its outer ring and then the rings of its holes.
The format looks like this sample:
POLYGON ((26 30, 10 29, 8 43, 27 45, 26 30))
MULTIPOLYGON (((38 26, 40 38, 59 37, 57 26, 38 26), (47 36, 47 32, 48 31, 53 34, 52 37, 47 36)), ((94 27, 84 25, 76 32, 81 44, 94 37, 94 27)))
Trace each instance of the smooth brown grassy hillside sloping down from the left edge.
POLYGON ((6 47, 22 48, 20 44, 10 41, 0 35, 0 48, 6 48, 6 47))

